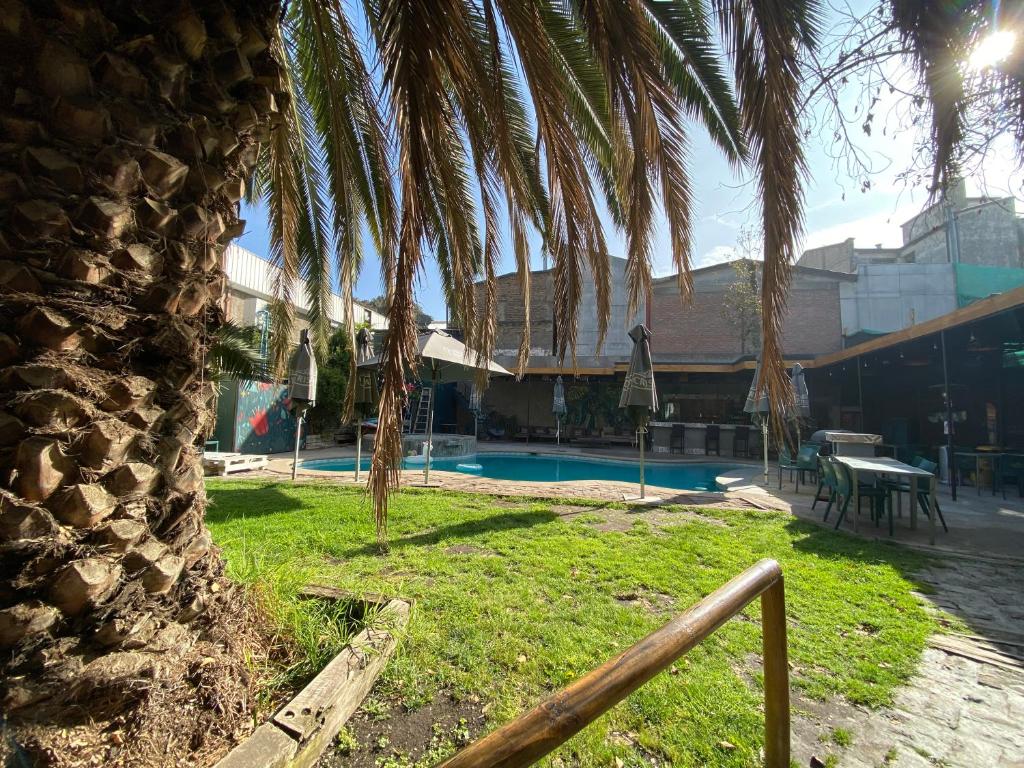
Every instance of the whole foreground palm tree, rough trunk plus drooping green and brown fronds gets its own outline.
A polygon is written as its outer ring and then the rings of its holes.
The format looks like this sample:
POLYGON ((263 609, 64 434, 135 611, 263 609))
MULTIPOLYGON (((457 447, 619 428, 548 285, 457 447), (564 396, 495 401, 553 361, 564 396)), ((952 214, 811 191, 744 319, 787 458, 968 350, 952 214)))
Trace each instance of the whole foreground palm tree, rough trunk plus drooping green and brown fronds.
MULTIPOLYGON (((101 744, 109 763, 143 762, 168 710, 187 714, 166 731, 178 756, 202 755, 211 726, 229 731, 248 712, 241 641, 224 629, 240 598, 204 524, 196 447, 211 422, 220 254, 242 230, 245 195, 268 201, 283 267, 279 360, 295 281, 313 287, 323 349, 335 275, 350 299, 367 234, 381 255, 391 331, 371 485, 382 536, 424 258, 486 354, 502 219, 527 305, 527 232, 540 232, 559 353, 571 354, 585 267, 608 313, 602 202, 626 232, 633 306, 648 290, 658 204, 688 291, 691 121, 756 172, 764 385, 781 402, 803 211, 799 56, 814 5, 2 0, 5 712, 45 725, 68 724, 83 701, 96 720, 128 708, 111 722, 131 737, 101 744), (480 305, 477 275, 489 286, 480 305)), ((26 732, 40 755, 67 733, 26 732)), ((173 759, 160 756, 148 758, 173 759)))

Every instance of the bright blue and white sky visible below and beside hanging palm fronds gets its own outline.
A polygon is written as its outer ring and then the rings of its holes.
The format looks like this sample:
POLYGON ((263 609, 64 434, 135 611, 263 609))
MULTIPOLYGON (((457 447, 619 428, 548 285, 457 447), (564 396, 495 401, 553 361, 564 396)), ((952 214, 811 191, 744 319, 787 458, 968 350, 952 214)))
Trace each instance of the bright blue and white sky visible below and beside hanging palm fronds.
MULTIPOLYGON (((856 0, 861 6, 868 3, 856 0)), ((858 10, 858 8, 855 8, 858 10)), ((839 16, 826 18, 825 27, 839 24, 839 16)), ((901 66, 890 68, 890 82, 907 88, 912 75, 901 66)), ((861 84, 845 88, 840 104, 847 116, 850 136, 862 165, 851 168, 849 153, 838 151, 835 138, 837 123, 824 103, 818 103, 805 116, 807 138, 807 181, 805 203, 805 237, 802 249, 815 248, 854 238, 855 245, 869 248, 876 245, 900 244, 900 224, 919 213, 928 204, 928 194, 919 176, 906 172, 914 157, 914 147, 927 134, 927 123, 915 118, 908 100, 888 88, 879 94, 871 112, 874 119, 870 135, 860 128, 864 99, 861 84), (864 172, 863 168, 869 171, 864 172), (868 185, 864 182, 868 181, 868 185)), ((730 166, 715 147, 702 128, 693 125, 690 135, 690 178, 693 200, 693 267, 710 266, 736 257, 736 242, 740 229, 757 227, 760 212, 756 184, 749 172, 730 166)), ((1022 178, 1014 170, 1013 145, 1008 138, 989 152, 967 178, 970 195, 987 194, 1020 197, 1022 178)), ((261 206, 244 208, 246 231, 239 245, 261 256, 268 252, 266 211, 261 206)), ((625 256, 625 239, 604 217, 605 237, 609 252, 625 256)), ((535 268, 541 268, 541 256, 535 243, 535 268)), ((670 274, 671 249, 664 217, 659 218, 654 236, 654 272, 670 274)), ((514 270, 514 258, 508 243, 503 245, 499 273, 514 270)), ((444 300, 439 286, 436 264, 427 259, 417 286, 417 300, 435 318, 444 317, 444 300)), ((384 293, 380 278, 380 261, 368 253, 362 273, 355 287, 356 298, 370 299, 384 293)))

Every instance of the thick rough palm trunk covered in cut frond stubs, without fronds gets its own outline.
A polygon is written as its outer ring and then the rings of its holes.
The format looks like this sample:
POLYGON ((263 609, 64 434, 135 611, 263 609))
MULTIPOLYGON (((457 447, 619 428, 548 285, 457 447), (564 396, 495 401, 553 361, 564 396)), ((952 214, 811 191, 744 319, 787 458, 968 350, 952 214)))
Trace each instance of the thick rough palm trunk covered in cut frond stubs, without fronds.
POLYGON ((280 12, 0 0, 0 679, 37 757, 77 702, 131 733, 160 693, 194 754, 248 707, 198 445, 220 255, 282 105, 280 12), (204 666, 231 679, 216 707, 204 666))

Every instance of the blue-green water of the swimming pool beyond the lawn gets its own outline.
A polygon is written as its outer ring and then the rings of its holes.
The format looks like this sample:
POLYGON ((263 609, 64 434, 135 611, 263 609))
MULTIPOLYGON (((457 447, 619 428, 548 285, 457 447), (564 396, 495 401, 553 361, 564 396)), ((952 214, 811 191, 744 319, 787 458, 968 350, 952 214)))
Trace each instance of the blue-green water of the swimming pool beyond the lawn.
MULTIPOLYGON (((328 472, 351 472, 355 459, 312 459, 302 462, 303 469, 328 472)), ((585 459, 574 456, 544 454, 476 454, 457 459, 432 459, 431 469, 445 472, 493 477, 501 480, 527 480, 530 482, 558 482, 561 480, 617 480, 639 482, 640 465, 635 461, 612 459, 585 459)), ((362 469, 370 469, 370 459, 361 462, 362 469)), ((403 469, 422 470, 423 459, 402 463, 403 469)), ((647 463, 644 479, 650 485, 660 485, 679 490, 719 490, 715 478, 731 469, 726 464, 647 463)))

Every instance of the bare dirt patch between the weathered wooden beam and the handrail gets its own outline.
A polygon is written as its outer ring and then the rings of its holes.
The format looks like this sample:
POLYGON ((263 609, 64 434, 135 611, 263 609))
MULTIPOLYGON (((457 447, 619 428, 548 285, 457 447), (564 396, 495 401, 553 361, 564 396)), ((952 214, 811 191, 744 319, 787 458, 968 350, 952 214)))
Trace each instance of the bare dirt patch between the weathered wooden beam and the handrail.
POLYGON ((401 703, 370 699, 316 765, 377 768, 388 759, 400 765, 415 764, 430 751, 469 743, 485 730, 484 720, 483 706, 476 696, 457 699, 440 692, 430 703, 411 712, 401 703))

